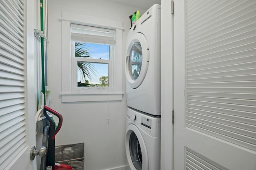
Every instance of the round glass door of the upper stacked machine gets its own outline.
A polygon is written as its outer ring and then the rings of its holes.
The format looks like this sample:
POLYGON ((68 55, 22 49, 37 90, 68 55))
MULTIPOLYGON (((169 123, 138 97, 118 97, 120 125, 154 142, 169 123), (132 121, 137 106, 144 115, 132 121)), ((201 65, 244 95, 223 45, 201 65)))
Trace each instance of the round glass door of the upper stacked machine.
POLYGON ((148 71, 149 48, 146 37, 135 33, 126 50, 125 74, 128 85, 136 89, 144 80, 148 71))

